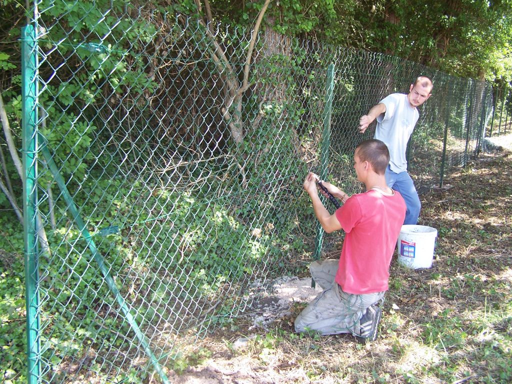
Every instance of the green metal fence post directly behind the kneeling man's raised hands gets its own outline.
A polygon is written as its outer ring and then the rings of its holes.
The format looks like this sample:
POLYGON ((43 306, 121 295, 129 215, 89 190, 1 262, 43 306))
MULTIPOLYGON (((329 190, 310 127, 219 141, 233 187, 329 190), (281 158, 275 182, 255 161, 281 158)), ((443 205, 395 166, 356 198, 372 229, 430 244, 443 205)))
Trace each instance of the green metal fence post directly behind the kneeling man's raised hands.
MULTIPOLYGON (((318 175, 322 180, 327 177, 327 163, 329 161, 329 145, 331 141, 331 116, 332 116, 332 99, 334 95, 334 64, 330 64, 327 68, 327 84, 324 108, 324 131, 322 134, 322 147, 320 154, 321 170, 318 175)), ((320 259, 322 252, 322 243, 324 241, 324 228, 320 223, 316 224, 315 253, 314 260, 320 259)), ((311 287, 315 287, 315 282, 311 279, 311 287)))

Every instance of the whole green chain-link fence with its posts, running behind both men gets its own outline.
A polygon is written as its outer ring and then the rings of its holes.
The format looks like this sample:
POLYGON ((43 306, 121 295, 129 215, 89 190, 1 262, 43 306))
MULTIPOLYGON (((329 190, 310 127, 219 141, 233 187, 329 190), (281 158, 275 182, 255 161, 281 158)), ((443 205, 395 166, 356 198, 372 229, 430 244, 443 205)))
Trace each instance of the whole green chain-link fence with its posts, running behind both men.
POLYGON ((6 100, 23 121, 29 382, 168 382, 274 279, 337 257, 303 179, 361 191, 359 117, 417 76, 434 81, 408 151, 420 191, 478 155, 493 116, 488 83, 396 57, 124 2, 36 6, 23 111, 6 100))

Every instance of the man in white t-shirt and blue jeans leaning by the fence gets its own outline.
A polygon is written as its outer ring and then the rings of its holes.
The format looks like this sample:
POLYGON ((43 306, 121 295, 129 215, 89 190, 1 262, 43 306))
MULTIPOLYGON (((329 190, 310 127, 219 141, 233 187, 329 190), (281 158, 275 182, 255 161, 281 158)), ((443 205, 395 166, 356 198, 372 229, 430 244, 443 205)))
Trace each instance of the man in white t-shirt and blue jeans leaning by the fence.
POLYGON ((432 80, 420 76, 411 84, 409 93, 393 93, 374 105, 367 115, 359 119, 359 132, 365 133, 368 126, 377 119, 374 138, 388 146, 391 160, 386 169, 386 183, 397 190, 407 204, 403 224, 418 222, 421 203, 413 180, 407 172, 407 143, 419 118, 417 107, 431 95, 432 80))

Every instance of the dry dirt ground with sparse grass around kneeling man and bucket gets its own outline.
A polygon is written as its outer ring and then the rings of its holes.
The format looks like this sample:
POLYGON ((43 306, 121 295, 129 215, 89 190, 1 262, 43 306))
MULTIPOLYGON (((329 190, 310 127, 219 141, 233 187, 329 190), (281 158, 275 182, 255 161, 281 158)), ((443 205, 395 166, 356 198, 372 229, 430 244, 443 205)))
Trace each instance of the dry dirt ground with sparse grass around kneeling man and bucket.
MULTIPOLYGON (((446 311, 460 316, 462 323, 471 322, 473 314, 467 313, 467 308, 487 306, 487 300, 492 300, 475 290, 466 293, 466 287, 461 288, 463 294, 455 292, 451 297, 446 293, 449 287, 446 279, 471 274, 501 279, 507 287, 512 284, 510 223, 503 209, 512 202, 512 189, 503 189, 510 185, 512 135, 488 140, 492 150, 446 177, 447 188, 420 196, 423 208, 419 224, 439 230, 438 252, 431 270, 404 269, 397 265, 395 256, 383 323, 375 343, 361 346, 350 335, 295 336, 294 317, 319 290, 310 287, 309 278, 288 278, 276 281, 273 295, 264 297, 236 327, 219 330, 200 340, 198 347, 213 351, 211 355, 183 372, 169 372, 170 382, 444 382, 428 372, 421 373, 418 368, 440 360, 418 342, 425 323, 434 322, 446 311), (490 237, 498 240, 490 242, 490 237), (432 276, 439 277, 435 280, 432 276), (410 347, 409 354, 398 355, 396 351, 406 345, 410 347), (417 381, 408 379, 403 375, 407 369, 423 376, 418 376, 417 381)), ((446 346, 444 352, 449 350, 450 346, 446 346)), ((465 352, 455 351, 453 356, 462 353, 465 352)), ((461 361, 461 366, 467 367, 456 373, 461 377, 457 381, 460 383, 481 382, 478 377, 489 369, 488 361, 479 364, 469 357, 461 361)))

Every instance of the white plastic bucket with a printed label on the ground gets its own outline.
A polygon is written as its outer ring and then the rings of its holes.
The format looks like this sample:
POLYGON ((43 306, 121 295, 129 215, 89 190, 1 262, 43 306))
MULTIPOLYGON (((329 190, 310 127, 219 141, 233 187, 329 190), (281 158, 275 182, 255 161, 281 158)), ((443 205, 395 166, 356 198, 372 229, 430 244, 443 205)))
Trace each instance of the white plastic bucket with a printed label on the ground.
POLYGON ((436 238, 436 228, 402 225, 396 245, 398 262, 413 269, 432 267, 436 238))

